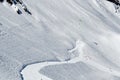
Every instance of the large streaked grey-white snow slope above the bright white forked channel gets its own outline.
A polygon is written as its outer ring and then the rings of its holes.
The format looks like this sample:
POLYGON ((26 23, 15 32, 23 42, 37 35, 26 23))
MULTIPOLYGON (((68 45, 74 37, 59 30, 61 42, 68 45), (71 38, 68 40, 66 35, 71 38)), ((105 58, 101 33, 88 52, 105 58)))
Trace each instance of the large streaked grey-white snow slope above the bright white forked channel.
POLYGON ((0 80, 21 80, 19 71, 28 64, 77 56, 77 52, 68 52, 77 40, 87 44, 86 55, 119 70, 120 18, 112 3, 103 0, 24 2, 33 16, 24 12, 17 15, 7 5, 0 5, 0 80))

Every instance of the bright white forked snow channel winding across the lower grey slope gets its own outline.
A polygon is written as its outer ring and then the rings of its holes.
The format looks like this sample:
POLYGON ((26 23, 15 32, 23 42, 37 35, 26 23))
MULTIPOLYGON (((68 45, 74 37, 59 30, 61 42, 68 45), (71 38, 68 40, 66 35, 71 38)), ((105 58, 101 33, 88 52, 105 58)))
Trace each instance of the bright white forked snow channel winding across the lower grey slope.
POLYGON ((120 72, 103 66, 95 61, 92 60, 92 58, 90 56, 87 56, 84 54, 84 47, 86 46, 86 44, 83 41, 78 40, 76 42, 76 47, 72 50, 70 50, 69 52, 73 52, 75 50, 79 51, 79 56, 75 57, 69 61, 63 61, 63 62, 42 62, 42 63, 36 63, 36 64, 31 64, 26 66, 22 71, 21 71, 21 75, 23 76, 24 80, 53 80, 41 73, 39 73, 39 71, 41 69, 43 69, 46 66, 50 66, 50 65, 61 65, 61 64, 75 64, 77 62, 83 62, 87 65, 91 65, 96 69, 99 69, 103 72, 107 72, 111 75, 114 76, 118 76, 120 77, 120 72))

